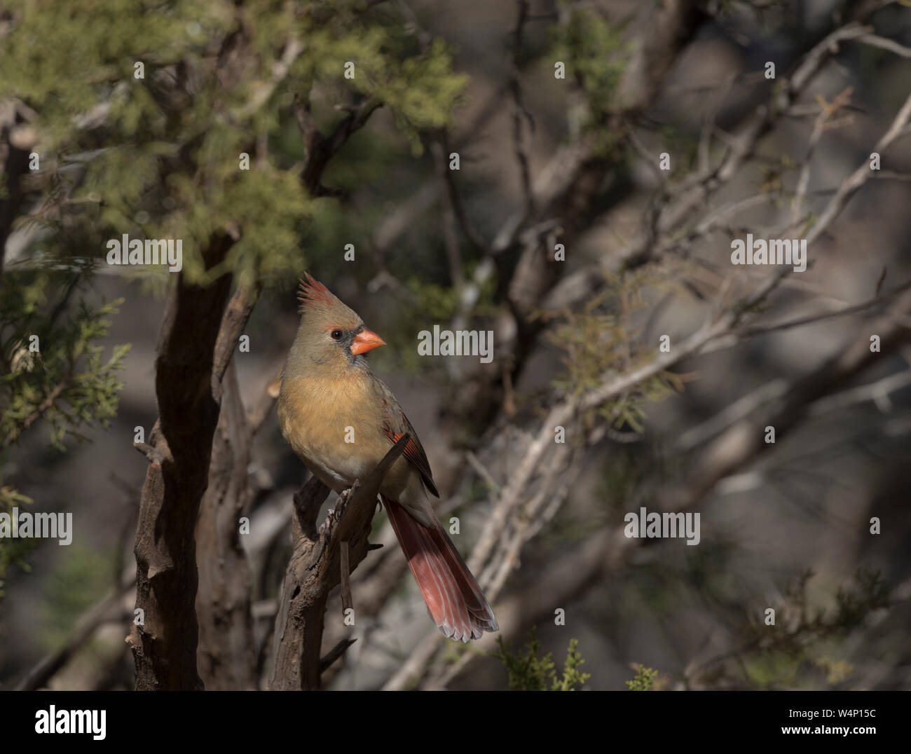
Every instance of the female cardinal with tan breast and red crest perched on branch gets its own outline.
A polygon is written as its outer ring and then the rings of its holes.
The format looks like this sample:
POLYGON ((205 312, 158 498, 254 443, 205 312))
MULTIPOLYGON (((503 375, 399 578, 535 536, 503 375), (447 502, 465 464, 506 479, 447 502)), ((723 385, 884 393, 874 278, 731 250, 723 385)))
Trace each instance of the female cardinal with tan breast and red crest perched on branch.
POLYGON ((408 433, 411 439, 386 474, 380 497, 430 616, 456 641, 498 630, 493 610, 427 499, 426 490, 439 493, 415 429, 363 355, 384 341, 310 275, 301 281, 298 300, 301 324, 281 378, 281 434, 323 484, 342 492, 370 474, 408 433))

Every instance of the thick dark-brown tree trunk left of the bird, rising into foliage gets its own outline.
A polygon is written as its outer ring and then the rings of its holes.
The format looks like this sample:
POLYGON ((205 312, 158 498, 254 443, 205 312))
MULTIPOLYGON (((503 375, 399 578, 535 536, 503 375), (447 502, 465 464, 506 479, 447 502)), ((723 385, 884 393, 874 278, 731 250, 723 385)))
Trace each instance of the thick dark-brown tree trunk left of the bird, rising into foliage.
MULTIPOLYGON (((218 235, 203 255, 207 269, 232 241, 218 235)), ((210 286, 181 272, 165 309, 156 359, 159 420, 149 457, 136 532, 136 606, 128 639, 138 690, 201 689, 196 667, 196 519, 209 479, 219 402, 212 391, 213 352, 228 301, 230 274, 210 286), (141 618, 141 623, 139 622, 141 618)))

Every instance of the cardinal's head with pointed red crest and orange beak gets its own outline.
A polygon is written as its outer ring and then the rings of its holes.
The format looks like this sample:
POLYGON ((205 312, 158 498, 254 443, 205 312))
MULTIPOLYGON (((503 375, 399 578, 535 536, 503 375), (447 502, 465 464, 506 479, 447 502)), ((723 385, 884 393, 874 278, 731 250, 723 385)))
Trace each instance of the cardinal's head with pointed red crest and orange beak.
POLYGON ((307 274, 298 290, 301 326, 297 342, 313 362, 352 366, 368 351, 385 345, 374 331, 368 330, 356 311, 345 306, 319 280, 307 274))

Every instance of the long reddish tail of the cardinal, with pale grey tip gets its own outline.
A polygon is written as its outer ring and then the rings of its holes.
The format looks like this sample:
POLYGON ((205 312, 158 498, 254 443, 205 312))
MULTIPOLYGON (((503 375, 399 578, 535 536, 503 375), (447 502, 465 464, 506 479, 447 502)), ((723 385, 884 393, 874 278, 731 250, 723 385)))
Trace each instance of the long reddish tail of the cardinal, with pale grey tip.
POLYGON ((382 497, 436 626, 447 637, 463 642, 480 638, 485 631, 498 631, 494 611, 443 526, 436 523, 427 528, 400 504, 382 497))

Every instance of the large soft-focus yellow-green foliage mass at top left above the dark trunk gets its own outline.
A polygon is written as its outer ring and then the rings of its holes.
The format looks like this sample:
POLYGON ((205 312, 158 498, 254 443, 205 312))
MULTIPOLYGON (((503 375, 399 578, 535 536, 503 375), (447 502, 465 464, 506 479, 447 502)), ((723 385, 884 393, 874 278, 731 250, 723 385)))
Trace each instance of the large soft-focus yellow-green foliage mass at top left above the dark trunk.
POLYGON ((67 229, 49 239, 52 255, 77 248, 97 258, 104 239, 128 233, 181 239, 184 272, 200 284, 226 270, 242 283, 299 275, 314 201, 300 163, 281 151, 257 154, 261 137, 273 148, 285 143, 293 97, 312 102, 323 133, 340 119, 336 106, 364 97, 381 104, 416 153, 420 131, 447 125, 466 86, 442 40, 421 49, 403 25, 361 3, 159 5, 38 0, 9 22, 0 98, 18 97, 37 113, 35 179, 50 201, 40 220, 67 229), (234 45, 227 63, 213 47, 221 38, 234 45), (353 78, 344 77, 349 62, 353 78), (186 86, 174 87, 178 78, 186 86), (251 169, 239 168, 241 153, 251 169), (63 178, 63 168, 84 175, 63 178), (207 269, 216 232, 236 242, 207 269))

